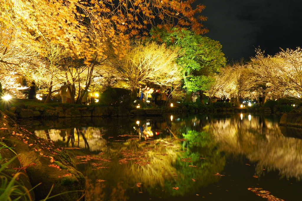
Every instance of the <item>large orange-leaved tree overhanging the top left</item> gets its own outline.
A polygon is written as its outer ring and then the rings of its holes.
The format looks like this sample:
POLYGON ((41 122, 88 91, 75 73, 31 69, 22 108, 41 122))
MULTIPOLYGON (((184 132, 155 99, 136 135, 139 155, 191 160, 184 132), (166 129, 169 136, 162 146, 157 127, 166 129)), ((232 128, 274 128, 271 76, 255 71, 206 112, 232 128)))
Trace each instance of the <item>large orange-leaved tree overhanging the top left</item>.
MULTIPOLYGON (((83 60, 87 67, 86 92, 95 65, 107 58, 109 47, 121 58, 128 39, 147 35, 148 27, 191 26, 196 33, 206 32, 201 24, 206 18, 198 16, 204 6, 193 9, 194 2, 0 0, 0 23, 5 25, 2 31, 11 29, 3 33, 14 38, 18 48, 30 45, 43 56, 41 44, 52 42, 64 47, 73 60, 83 60)), ((32 55, 27 53, 24 55, 32 55)), ((75 94, 74 81, 71 84, 75 94)), ((77 101, 81 98, 78 96, 77 101)))

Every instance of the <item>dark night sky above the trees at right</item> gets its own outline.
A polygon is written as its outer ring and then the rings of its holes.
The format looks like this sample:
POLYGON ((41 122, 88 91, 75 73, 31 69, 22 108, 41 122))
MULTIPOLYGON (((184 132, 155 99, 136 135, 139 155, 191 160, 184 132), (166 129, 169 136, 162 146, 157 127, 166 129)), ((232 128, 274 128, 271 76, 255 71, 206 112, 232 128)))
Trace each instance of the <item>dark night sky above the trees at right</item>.
POLYGON ((274 55, 302 47, 302 0, 197 0, 209 33, 228 61, 249 59, 255 47, 274 55))

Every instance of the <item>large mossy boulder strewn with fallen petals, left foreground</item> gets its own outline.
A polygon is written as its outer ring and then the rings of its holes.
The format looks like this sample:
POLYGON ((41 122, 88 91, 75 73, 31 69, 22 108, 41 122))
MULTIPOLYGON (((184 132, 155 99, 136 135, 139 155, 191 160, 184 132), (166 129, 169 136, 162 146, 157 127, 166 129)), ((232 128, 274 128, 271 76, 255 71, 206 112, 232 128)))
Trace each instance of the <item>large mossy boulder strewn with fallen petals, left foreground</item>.
POLYGON ((19 155, 23 167, 29 165, 26 173, 31 185, 37 185, 34 188, 35 200, 45 199, 52 185, 50 196, 63 194, 50 200, 73 201, 82 196, 85 177, 75 169, 72 160, 62 147, 21 128, 2 111, 0 122, 3 123, 0 139, 7 146, 14 147, 14 152, 19 155))

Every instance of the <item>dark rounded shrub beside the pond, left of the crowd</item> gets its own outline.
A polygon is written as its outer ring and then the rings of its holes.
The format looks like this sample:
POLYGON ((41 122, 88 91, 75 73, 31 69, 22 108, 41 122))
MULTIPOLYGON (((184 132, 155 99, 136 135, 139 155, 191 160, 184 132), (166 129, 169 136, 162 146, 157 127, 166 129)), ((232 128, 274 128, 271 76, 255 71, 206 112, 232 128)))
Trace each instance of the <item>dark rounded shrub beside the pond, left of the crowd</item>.
POLYGON ((131 103, 131 91, 123 88, 109 88, 101 94, 100 102, 109 106, 128 107, 131 103))

